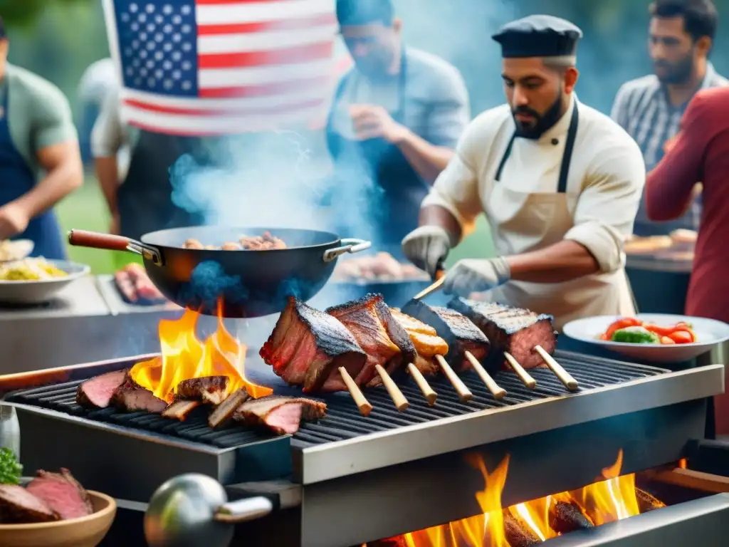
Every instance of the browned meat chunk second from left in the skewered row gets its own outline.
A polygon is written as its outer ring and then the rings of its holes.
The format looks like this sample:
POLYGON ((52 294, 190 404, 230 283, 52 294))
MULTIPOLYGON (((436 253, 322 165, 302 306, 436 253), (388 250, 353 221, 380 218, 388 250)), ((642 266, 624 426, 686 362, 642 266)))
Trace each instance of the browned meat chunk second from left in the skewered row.
MULTIPOLYGON (((403 358, 412 362, 416 353, 408 333, 395 321, 382 295, 367 295, 327 309, 327 314, 336 317, 354 335, 355 340, 367 354, 364 367, 357 376, 356 384, 374 386, 381 384, 375 365, 395 371, 402 365, 403 358)), ((340 375, 332 375, 324 383, 324 391, 346 389, 340 375), (341 383, 341 385, 340 385, 341 383)))

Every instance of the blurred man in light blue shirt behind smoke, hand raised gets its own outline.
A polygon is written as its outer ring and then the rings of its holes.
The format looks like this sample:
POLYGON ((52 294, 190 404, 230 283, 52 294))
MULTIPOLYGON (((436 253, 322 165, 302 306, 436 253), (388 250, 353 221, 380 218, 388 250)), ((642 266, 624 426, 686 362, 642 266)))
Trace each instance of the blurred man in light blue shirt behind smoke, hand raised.
POLYGON ((455 67, 402 42, 392 0, 338 0, 336 13, 354 66, 340 80, 326 129, 333 205, 344 216, 348 206, 352 217, 364 213, 374 228, 365 235, 399 255, 469 122, 468 93, 455 67))

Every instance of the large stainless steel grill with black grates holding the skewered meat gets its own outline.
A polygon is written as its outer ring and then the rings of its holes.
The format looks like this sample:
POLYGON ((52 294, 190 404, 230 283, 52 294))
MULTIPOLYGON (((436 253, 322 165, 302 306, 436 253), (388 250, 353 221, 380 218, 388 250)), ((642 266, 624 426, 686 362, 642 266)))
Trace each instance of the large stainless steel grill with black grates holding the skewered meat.
MULTIPOLYGON (((84 379, 148 358, 0 379, 4 404, 17 409, 24 465, 66 467, 89 489, 142 503, 168 478, 205 473, 233 499, 275 498, 284 511, 246 527, 266 529, 265 543, 251 544, 282 547, 361 545, 479 513, 472 494, 483 478, 465 454, 480 455, 490 469, 510 455, 504 505, 590 484, 620 449, 624 473, 675 462, 688 440, 703 436, 706 397, 722 392, 724 373, 722 365, 669 372, 558 352, 580 383, 577 393, 547 369, 530 371, 534 390, 499 373, 508 395, 496 401, 467 373, 472 401, 461 403, 445 379, 429 379, 438 393, 429 407, 403 379, 410 400, 404 413, 383 388, 367 391, 374 406, 367 417, 348 395, 336 394, 327 397, 325 419, 284 437, 237 426, 213 431, 204 411, 174 422, 75 404, 84 379), (284 532, 285 540, 276 535, 284 532)), ((268 369, 252 358, 246 373, 249 367, 264 383, 260 371, 268 369)))

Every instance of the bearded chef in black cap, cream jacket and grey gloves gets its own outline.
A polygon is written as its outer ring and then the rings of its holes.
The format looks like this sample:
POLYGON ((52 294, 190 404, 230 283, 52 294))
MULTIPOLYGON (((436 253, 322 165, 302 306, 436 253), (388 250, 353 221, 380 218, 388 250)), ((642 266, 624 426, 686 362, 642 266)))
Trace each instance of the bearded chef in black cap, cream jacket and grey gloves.
POLYGON ((623 244, 645 182, 639 147, 609 117, 577 101, 577 42, 569 21, 533 15, 501 28, 508 104, 483 112, 402 241, 435 275, 451 248, 486 214, 498 257, 467 259, 444 290, 555 316, 634 312, 623 244))

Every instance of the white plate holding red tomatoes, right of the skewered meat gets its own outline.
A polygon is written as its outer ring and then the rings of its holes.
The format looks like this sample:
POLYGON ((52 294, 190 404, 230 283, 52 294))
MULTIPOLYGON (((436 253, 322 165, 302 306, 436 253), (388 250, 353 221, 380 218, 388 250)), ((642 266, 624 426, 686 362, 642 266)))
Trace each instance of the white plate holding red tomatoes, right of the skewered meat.
POLYGON ((600 335, 609 325, 620 319, 616 315, 601 315, 575 319, 564 325, 564 334, 586 344, 594 344, 627 357, 650 362, 681 362, 712 351, 717 344, 729 340, 729 325, 725 322, 703 317, 689 317, 673 314, 637 314, 644 322, 666 327, 683 321, 693 325, 696 341, 693 344, 628 344, 600 340, 600 335))

